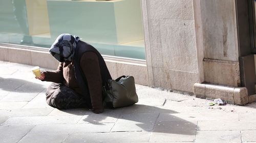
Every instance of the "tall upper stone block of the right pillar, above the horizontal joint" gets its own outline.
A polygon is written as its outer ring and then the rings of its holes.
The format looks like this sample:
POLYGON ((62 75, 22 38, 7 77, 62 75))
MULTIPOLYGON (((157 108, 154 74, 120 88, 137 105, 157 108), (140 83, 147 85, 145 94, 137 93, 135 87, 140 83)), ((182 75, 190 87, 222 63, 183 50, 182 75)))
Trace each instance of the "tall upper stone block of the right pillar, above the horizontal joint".
POLYGON ((234 1, 201 1, 201 15, 205 58, 238 61, 234 1))

